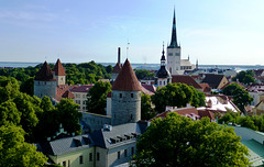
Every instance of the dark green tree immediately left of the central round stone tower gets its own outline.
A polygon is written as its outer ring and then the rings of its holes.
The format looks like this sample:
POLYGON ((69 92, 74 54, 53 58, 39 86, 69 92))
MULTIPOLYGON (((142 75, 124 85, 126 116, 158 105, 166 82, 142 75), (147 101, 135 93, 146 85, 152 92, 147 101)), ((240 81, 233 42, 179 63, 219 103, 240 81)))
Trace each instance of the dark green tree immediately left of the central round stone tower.
POLYGON ((89 112, 106 114, 107 94, 111 91, 109 82, 98 81, 87 94, 87 109, 89 112))

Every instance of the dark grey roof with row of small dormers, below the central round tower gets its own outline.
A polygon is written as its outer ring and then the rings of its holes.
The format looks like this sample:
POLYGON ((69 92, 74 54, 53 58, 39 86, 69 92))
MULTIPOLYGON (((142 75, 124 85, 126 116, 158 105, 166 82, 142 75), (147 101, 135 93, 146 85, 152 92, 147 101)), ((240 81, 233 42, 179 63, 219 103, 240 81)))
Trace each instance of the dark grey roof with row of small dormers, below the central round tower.
POLYGON ((95 144, 99 147, 114 148, 136 142, 138 136, 142 134, 141 131, 143 131, 142 124, 140 125, 139 123, 127 123, 112 126, 111 131, 103 129, 96 131, 91 134, 91 137, 92 141, 95 141, 95 144), (129 136, 131 136, 131 138, 128 138, 129 136))

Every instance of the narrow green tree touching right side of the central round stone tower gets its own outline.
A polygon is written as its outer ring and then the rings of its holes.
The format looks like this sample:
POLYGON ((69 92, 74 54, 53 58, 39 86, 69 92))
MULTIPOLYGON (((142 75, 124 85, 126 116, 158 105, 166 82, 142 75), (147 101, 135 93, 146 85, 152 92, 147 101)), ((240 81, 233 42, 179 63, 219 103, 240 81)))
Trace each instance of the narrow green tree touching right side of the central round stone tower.
POLYGON ((141 120, 150 120, 156 115, 156 112, 151 107, 151 97, 141 93, 141 120))

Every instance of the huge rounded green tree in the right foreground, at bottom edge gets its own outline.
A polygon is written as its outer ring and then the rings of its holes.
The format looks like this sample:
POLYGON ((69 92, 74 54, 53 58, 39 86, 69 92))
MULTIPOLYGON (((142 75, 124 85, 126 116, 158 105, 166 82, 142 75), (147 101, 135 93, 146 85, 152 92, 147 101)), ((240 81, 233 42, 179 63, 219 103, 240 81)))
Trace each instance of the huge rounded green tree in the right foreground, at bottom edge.
POLYGON ((136 166, 248 166, 248 148, 232 127, 208 118, 191 121, 169 113, 156 119, 141 135, 134 157, 136 166))

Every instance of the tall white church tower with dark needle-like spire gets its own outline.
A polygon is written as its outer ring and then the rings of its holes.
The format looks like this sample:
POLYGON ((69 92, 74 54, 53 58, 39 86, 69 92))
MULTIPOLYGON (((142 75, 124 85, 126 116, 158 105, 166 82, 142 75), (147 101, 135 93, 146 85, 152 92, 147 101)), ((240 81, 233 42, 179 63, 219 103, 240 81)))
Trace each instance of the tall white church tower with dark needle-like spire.
POLYGON ((180 46, 177 43, 175 10, 173 18, 173 30, 170 45, 167 46, 167 69, 172 75, 178 75, 180 70, 180 46))

